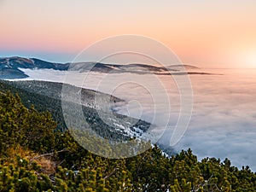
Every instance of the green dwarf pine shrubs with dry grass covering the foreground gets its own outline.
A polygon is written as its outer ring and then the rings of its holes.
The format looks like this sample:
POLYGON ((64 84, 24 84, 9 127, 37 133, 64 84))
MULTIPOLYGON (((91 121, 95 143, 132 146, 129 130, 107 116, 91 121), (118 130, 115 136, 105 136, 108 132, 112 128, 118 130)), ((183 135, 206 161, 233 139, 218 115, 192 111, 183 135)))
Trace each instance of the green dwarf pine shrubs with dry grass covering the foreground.
POLYGON ((0 191, 256 191, 256 174, 230 160, 198 161, 189 149, 167 157, 160 148, 109 160, 56 131, 48 112, 0 92, 0 191))

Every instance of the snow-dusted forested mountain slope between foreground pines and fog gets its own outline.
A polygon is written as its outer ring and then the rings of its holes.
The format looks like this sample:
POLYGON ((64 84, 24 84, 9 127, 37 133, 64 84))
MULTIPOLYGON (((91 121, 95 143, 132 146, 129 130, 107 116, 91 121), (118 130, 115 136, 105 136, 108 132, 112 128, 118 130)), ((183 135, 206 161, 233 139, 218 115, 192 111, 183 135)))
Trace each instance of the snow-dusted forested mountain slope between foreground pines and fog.
MULTIPOLYGON (((108 113, 111 113, 110 111, 108 112, 108 109, 111 110, 111 105, 118 102, 125 102, 118 97, 95 90, 79 88, 71 84, 65 84, 74 94, 76 94, 78 90, 81 91, 81 101, 76 102, 74 100, 67 100, 67 97, 63 98, 61 96, 62 86, 63 84, 61 83, 47 81, 0 80, 0 91, 6 92, 10 90, 13 94, 19 93, 21 101, 25 103, 27 108, 33 105, 38 111, 49 111, 53 114, 58 129, 61 130, 67 129, 62 113, 62 102, 67 103, 73 113, 78 113, 76 110, 79 106, 82 106, 84 118, 92 129, 102 137, 112 137, 111 139, 113 139, 113 141, 140 137, 150 126, 150 123, 142 119, 134 119, 119 113, 112 113, 111 116, 108 115, 108 113), (98 98, 97 101, 104 101, 107 98, 109 100, 109 108, 103 108, 104 106, 99 105, 102 104, 102 102, 96 103, 96 97, 98 98), (101 119, 99 113, 111 117, 108 124, 101 119)), ((72 96, 72 94, 70 96, 72 96)))

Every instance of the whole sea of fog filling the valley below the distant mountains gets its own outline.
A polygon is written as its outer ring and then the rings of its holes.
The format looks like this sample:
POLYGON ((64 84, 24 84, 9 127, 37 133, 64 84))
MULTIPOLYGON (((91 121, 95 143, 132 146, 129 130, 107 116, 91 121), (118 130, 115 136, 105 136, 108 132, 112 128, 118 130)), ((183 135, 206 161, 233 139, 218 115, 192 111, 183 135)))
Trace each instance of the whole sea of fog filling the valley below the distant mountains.
MULTIPOLYGON (((171 76, 22 70, 28 79, 65 82, 125 99, 113 110, 156 125, 167 122, 160 143, 169 144, 181 107, 171 76)), ((227 157, 234 166, 248 165, 256 172, 256 69, 205 71, 215 75, 189 75, 194 108, 187 131, 173 148, 177 152, 192 148, 199 160, 227 157)))

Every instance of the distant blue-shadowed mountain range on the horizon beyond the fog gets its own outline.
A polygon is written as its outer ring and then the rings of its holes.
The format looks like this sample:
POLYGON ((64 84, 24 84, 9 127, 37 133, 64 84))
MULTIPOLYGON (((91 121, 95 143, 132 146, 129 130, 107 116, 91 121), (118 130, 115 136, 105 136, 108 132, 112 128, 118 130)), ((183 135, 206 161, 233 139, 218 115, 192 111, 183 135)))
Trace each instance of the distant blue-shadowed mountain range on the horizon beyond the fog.
POLYGON ((0 58, 0 79, 25 79, 28 76, 22 69, 53 69, 59 71, 97 72, 97 73, 154 73, 157 75, 211 74, 201 73, 199 67, 191 65, 171 65, 156 67, 148 64, 105 64, 100 62, 55 63, 36 58, 19 56, 0 58))

